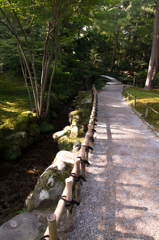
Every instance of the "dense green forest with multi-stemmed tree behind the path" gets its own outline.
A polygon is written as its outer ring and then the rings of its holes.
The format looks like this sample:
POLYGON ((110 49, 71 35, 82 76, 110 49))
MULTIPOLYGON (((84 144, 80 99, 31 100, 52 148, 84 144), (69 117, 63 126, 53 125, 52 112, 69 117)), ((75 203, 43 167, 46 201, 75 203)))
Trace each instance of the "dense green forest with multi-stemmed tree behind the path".
POLYGON ((102 74, 157 86, 158 6, 159 0, 1 0, 1 90, 23 77, 41 118, 50 99, 66 102, 93 84, 101 88, 102 74))

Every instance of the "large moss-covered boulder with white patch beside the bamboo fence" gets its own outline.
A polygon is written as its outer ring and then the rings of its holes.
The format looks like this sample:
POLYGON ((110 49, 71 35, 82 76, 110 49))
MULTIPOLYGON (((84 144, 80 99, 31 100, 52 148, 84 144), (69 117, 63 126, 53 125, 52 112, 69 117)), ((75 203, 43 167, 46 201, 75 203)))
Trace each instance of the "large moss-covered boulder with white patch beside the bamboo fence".
POLYGON ((29 210, 56 203, 64 189, 65 179, 69 175, 70 169, 62 172, 50 165, 37 181, 32 197, 28 201, 29 210))

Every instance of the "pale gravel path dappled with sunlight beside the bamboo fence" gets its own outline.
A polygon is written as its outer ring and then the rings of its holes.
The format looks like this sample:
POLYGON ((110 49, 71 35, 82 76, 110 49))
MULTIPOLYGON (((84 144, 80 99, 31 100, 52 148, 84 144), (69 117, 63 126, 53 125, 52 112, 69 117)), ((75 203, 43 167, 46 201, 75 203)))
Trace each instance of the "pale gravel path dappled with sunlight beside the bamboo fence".
POLYGON ((159 240, 159 139, 121 90, 98 93, 94 151, 67 240, 159 240))

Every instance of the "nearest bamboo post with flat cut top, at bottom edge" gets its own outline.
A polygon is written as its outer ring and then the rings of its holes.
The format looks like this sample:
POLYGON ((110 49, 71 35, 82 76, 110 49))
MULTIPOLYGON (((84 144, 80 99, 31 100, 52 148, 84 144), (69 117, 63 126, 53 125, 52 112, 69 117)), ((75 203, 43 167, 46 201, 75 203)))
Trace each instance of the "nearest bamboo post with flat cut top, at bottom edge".
POLYGON ((57 240, 56 215, 51 213, 47 216, 49 227, 49 240, 57 240))

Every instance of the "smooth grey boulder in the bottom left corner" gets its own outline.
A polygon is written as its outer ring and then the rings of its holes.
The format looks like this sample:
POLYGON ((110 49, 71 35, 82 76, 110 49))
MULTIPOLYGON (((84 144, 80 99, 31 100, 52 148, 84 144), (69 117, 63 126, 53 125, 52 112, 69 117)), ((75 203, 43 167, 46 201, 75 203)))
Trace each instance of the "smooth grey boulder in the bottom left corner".
POLYGON ((39 220, 32 213, 21 213, 0 227, 1 240, 34 240, 39 220))

